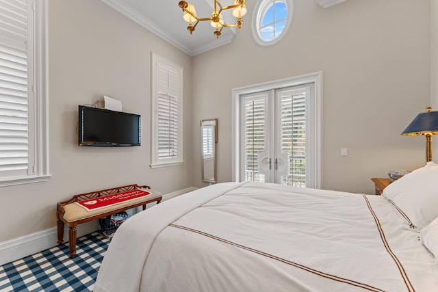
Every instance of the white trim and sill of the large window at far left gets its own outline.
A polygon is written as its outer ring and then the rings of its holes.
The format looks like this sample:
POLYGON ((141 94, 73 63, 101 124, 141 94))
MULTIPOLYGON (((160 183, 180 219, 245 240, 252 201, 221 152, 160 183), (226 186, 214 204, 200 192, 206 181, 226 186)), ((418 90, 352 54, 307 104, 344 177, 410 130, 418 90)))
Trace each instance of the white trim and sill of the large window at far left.
POLYGON ((34 19, 34 84, 29 84, 29 88, 34 90, 33 111, 29 113, 29 116, 34 117, 29 121, 29 127, 34 128, 34 139, 29 140, 29 145, 34 147, 34 157, 29 157, 29 159, 34 160, 34 169, 29 170, 27 176, 0 178, 0 187, 38 183, 47 181, 50 177, 47 1, 29 1, 30 7, 36 10, 34 19))

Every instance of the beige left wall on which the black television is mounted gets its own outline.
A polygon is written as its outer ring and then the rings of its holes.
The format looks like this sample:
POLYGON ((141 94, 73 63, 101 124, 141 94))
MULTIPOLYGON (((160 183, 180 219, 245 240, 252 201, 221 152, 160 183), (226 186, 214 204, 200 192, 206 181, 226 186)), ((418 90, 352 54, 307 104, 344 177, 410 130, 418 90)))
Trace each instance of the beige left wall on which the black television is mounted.
MULTIPOLYGON (((53 228, 55 206, 74 194, 131 183, 164 194, 192 183, 191 58, 99 0, 49 1, 51 178, 2 187, 0 242, 53 228), (185 122, 181 166, 151 170, 151 51, 183 66, 185 122), (142 146, 77 146, 77 105, 103 94, 142 115, 142 146)), ((81 233, 81 228, 78 228, 81 233)), ((53 242, 55 245, 55 242, 53 242)))

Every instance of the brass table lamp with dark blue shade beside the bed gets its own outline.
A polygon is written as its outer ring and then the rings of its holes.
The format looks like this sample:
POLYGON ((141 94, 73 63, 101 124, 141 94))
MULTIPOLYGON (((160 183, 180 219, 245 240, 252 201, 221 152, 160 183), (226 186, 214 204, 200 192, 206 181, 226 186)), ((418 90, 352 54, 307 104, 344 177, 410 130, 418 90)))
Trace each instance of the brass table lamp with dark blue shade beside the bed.
POLYGON ((438 111, 427 107, 426 112, 418 114, 403 131, 404 136, 426 136, 426 163, 432 161, 432 135, 438 134, 438 111))

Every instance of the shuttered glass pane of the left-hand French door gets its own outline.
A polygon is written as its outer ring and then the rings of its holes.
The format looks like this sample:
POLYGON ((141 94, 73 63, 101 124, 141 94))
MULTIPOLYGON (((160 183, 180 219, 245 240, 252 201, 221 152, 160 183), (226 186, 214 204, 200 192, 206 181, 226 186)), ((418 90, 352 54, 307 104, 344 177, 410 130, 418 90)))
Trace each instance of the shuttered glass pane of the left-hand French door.
POLYGON ((261 169, 261 166, 268 165, 265 145, 266 97, 250 96, 244 98, 242 111, 244 180, 264 183, 266 181, 266 172, 261 169))

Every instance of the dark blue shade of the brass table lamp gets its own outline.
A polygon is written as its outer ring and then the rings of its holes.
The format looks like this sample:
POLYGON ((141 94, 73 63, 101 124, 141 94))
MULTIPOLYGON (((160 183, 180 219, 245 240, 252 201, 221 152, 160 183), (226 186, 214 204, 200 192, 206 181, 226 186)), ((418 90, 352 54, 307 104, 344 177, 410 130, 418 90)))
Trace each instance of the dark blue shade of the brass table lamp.
POLYGON ((402 135, 437 135, 438 134, 438 111, 431 111, 431 107, 422 114, 418 114, 402 135))

